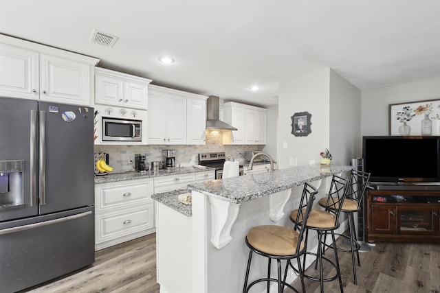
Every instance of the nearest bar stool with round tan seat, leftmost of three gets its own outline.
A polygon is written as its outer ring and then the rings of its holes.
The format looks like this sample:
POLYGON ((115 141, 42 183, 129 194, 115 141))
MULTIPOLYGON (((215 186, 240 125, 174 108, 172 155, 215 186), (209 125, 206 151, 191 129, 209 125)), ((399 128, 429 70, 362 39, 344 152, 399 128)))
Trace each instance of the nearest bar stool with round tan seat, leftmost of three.
MULTIPOLYGON (((299 210, 297 215, 297 222, 307 223, 309 214, 311 211, 311 206, 316 198, 318 191, 315 187, 305 183, 303 189, 303 195, 301 196, 299 210)), ((300 256, 305 253, 306 244, 304 242, 304 231, 305 226, 295 225, 294 229, 287 228, 285 226, 276 225, 263 225, 256 226, 248 232, 246 235, 246 245, 250 248, 248 257, 248 266, 246 268, 245 283, 243 285, 243 293, 249 292, 250 288, 256 283, 267 282, 267 293, 270 291, 270 282, 278 283, 278 293, 282 293, 284 287, 298 292, 292 285, 285 282, 287 276, 287 270, 285 270, 284 279, 281 280, 281 260, 286 259, 287 266, 291 259, 296 259, 298 263, 298 268, 300 272, 301 285, 303 287, 303 292, 305 292, 305 285, 303 280, 303 270, 300 266, 300 256), (299 229, 299 232, 296 229, 299 229), (257 279, 248 285, 250 264, 252 261, 252 254, 257 253, 263 257, 267 257, 267 277, 262 279, 257 279), (270 267, 272 259, 276 259, 278 265, 278 279, 270 277, 270 267)))

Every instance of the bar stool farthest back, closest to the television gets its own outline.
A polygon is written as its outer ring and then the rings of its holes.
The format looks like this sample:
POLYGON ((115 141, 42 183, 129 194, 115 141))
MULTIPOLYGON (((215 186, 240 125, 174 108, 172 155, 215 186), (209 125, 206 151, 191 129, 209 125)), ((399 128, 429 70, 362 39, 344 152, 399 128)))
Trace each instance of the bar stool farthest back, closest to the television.
MULTIPOLYGON (((355 253, 358 256, 358 266, 360 266, 358 237, 356 235, 354 226, 354 213, 358 213, 362 207, 362 200, 364 199, 365 189, 369 183, 370 174, 353 169, 351 171, 350 182, 347 187, 347 197, 342 204, 342 213, 347 214, 349 219, 349 232, 350 235, 338 234, 346 239, 349 239, 350 249, 337 247, 338 251, 351 252, 351 262, 353 263, 353 280, 355 285, 358 285, 358 278, 356 277, 356 265, 355 265, 355 253)), ((318 204, 321 207, 327 207, 328 198, 321 198, 318 204)), ((328 207, 328 209, 334 210, 334 206, 328 207)), ((325 241, 324 241, 325 242, 325 241)), ((331 247, 330 245, 326 245, 331 247)))

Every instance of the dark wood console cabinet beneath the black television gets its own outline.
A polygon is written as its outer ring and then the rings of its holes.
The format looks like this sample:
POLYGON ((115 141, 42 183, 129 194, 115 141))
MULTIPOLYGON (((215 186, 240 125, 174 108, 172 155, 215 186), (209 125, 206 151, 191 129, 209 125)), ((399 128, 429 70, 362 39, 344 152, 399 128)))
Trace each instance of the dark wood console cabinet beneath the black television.
POLYGON ((370 190, 366 241, 440 242, 440 191, 370 190))

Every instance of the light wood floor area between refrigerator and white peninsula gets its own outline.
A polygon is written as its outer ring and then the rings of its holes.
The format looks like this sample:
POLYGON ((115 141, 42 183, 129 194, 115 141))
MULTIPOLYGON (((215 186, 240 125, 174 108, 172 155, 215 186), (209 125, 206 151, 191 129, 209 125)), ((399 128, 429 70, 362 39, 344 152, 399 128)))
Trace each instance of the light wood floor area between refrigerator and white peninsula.
POLYGON ((158 293, 156 235, 154 233, 99 250, 94 264, 89 268, 23 292, 158 293))

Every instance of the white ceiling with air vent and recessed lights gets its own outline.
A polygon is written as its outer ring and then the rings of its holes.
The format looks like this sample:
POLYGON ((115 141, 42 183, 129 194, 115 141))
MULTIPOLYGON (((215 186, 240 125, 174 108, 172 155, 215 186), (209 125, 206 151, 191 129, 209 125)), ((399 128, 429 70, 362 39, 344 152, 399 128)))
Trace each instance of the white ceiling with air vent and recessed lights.
POLYGON ((324 68, 361 90, 440 75, 440 1, 0 0, 0 33, 257 106, 277 104, 280 80, 324 68), (91 43, 94 29, 115 46, 91 43))

